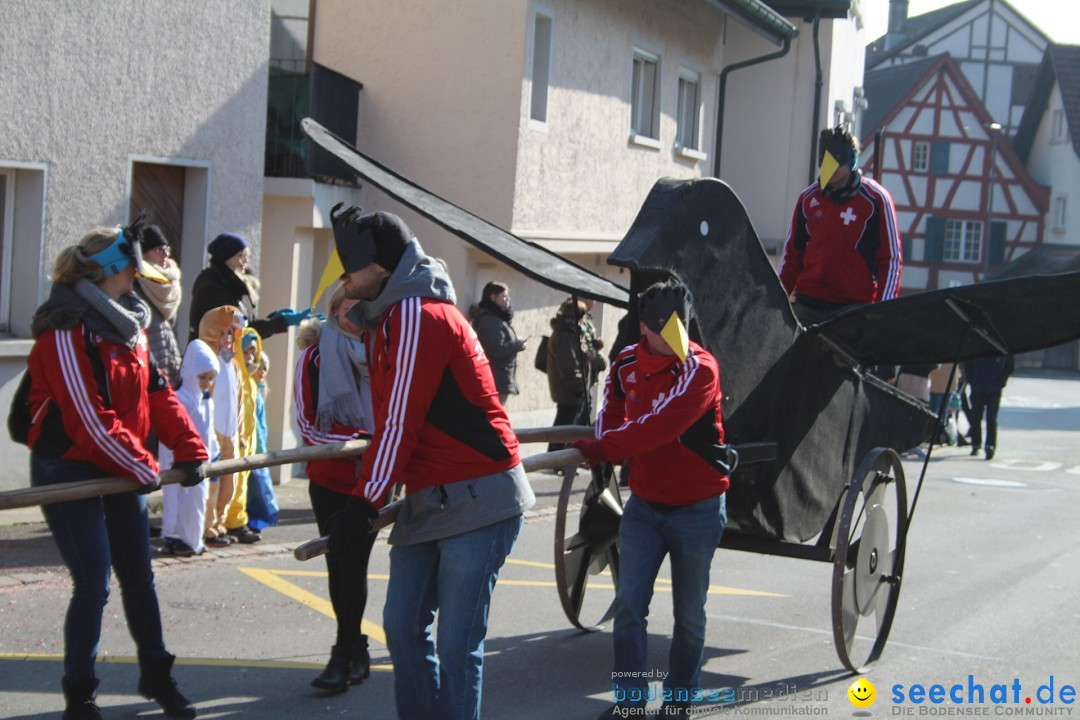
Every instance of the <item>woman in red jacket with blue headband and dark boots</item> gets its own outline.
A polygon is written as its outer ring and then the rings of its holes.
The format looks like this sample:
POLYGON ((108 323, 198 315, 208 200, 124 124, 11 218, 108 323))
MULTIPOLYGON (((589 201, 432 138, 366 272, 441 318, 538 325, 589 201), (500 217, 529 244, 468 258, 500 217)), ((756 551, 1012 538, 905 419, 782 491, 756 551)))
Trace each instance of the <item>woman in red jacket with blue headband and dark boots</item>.
POLYGON ((100 718, 94 661, 110 565, 138 649, 139 693, 171 717, 195 717, 162 639, 145 497, 159 487, 158 463, 144 439, 152 430, 172 448, 188 486, 200 481, 206 449, 149 353, 150 311, 133 293, 138 240, 134 226, 97 228, 63 249, 31 325, 31 485, 123 476, 137 488, 42 507, 73 584, 64 623, 65 720, 100 718))

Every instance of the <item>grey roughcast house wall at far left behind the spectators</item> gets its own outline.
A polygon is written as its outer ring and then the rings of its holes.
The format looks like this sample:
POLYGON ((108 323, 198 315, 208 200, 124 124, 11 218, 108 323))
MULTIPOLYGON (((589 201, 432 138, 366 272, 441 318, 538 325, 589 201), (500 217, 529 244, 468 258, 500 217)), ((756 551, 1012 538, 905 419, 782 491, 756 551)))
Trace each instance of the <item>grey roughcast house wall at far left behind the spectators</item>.
MULTIPOLYGON (((0 340, 0 405, 26 368, 57 253, 129 219, 133 162, 203 177, 205 196, 185 201, 206 203, 185 217, 195 267, 207 233, 244 233, 257 254, 269 17, 262 0, 0 2, 0 169, 16 185, 12 326, 24 338, 0 340)), ((29 484, 25 450, 0 443, 0 489, 29 484)))

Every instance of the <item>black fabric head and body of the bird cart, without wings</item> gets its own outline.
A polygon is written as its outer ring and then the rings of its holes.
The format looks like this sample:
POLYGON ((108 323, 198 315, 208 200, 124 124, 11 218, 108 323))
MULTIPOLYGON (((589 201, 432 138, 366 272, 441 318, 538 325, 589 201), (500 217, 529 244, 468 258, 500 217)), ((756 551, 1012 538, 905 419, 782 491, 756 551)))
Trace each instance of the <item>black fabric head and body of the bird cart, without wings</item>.
POLYGON ((778 445, 777 460, 735 471, 732 529, 809 540, 873 448, 903 451, 930 437, 926 406, 799 330, 745 208, 720 180, 658 181, 608 262, 631 270, 634 288, 664 276, 686 284, 691 336, 720 365, 726 441, 778 445))

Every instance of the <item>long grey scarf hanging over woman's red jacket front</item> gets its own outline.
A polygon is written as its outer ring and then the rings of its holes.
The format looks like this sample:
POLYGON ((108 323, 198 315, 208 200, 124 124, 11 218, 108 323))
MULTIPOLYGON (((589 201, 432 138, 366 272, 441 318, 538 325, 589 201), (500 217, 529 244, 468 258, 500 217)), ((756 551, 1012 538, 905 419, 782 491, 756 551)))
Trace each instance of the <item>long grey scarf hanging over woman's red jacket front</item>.
POLYGON ((367 432, 375 430, 364 343, 346 332, 333 313, 328 313, 319 337, 319 409, 315 424, 322 432, 327 432, 334 424, 367 432))

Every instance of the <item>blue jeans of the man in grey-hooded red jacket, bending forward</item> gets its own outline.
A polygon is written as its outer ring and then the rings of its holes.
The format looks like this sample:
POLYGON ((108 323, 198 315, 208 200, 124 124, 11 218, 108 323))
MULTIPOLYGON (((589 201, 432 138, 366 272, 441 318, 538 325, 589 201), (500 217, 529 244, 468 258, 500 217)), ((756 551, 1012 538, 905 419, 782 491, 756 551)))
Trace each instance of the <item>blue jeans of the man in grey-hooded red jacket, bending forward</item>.
POLYGON ((390 548, 382 622, 399 718, 480 718, 491 592, 522 524, 517 515, 459 535, 390 548), (431 634, 436 610, 437 647, 431 634))

